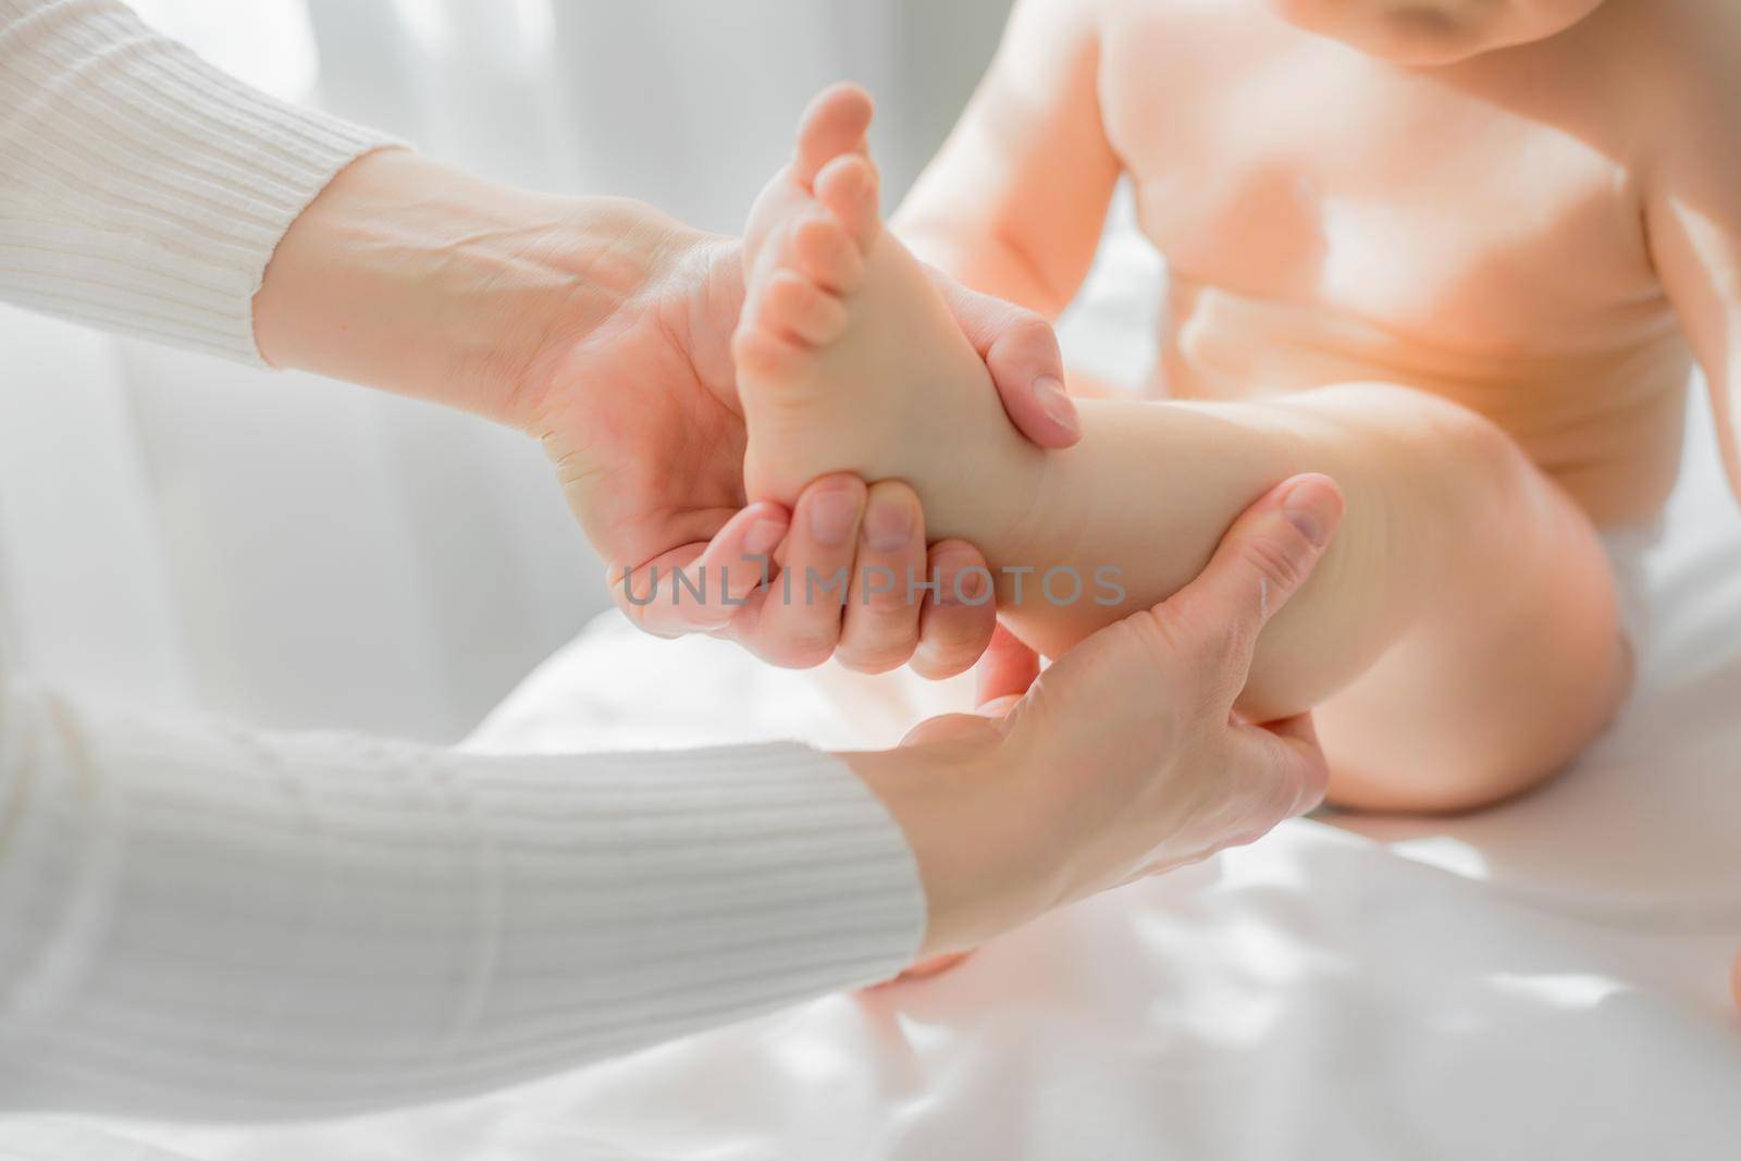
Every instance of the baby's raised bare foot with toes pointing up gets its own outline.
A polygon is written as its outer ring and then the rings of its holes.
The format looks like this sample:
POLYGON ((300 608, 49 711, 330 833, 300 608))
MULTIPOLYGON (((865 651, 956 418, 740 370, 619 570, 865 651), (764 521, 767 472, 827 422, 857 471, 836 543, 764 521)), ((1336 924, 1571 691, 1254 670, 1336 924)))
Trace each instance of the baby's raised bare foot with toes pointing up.
POLYGON ((797 155, 763 191, 745 242, 749 299, 733 352, 752 500, 790 505, 830 472, 902 479, 933 540, 991 550, 1018 519, 1031 463, 991 376, 926 268, 879 218, 870 99, 841 85, 804 113, 797 155))

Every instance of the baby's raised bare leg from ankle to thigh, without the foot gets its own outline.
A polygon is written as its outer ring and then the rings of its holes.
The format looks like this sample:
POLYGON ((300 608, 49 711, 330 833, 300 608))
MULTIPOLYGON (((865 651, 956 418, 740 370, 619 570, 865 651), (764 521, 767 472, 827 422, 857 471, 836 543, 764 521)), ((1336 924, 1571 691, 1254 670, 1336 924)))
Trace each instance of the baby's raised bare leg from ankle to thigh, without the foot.
POLYGON ((1459 809, 1508 797, 1563 766, 1619 703, 1630 661, 1600 541, 1480 416, 1400 386, 1344 385, 1245 406, 1085 400, 1083 423, 1034 519, 985 552, 1090 576, 1111 560, 1130 599, 1057 607, 1024 594, 1006 620, 1041 651, 1057 656, 1109 614, 1184 587, 1248 503, 1325 472, 1348 515, 1259 642, 1240 708, 1267 721, 1320 707, 1337 802, 1459 809))

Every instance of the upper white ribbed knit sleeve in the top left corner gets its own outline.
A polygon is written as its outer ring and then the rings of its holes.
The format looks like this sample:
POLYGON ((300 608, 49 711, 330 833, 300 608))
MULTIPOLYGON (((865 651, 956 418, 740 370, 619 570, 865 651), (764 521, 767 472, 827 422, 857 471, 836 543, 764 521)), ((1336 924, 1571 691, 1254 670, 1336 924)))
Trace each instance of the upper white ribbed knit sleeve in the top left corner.
POLYGON ((383 144, 226 77, 115 0, 0 0, 0 299, 259 364, 272 251, 383 144))

